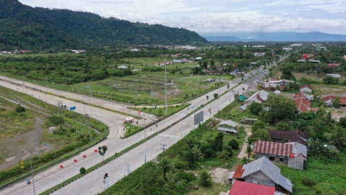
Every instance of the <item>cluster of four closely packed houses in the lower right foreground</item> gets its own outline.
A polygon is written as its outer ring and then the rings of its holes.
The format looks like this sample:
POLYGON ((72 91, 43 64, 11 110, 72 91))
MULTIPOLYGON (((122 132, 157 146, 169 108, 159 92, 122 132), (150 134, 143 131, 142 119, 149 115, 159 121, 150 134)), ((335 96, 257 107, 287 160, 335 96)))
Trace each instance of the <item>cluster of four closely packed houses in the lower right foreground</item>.
POLYGON ((300 130, 268 131, 273 141, 257 141, 255 159, 239 165, 228 180, 232 188, 227 195, 288 195, 293 184, 280 174, 275 164, 303 170, 307 160, 308 135, 300 130))

